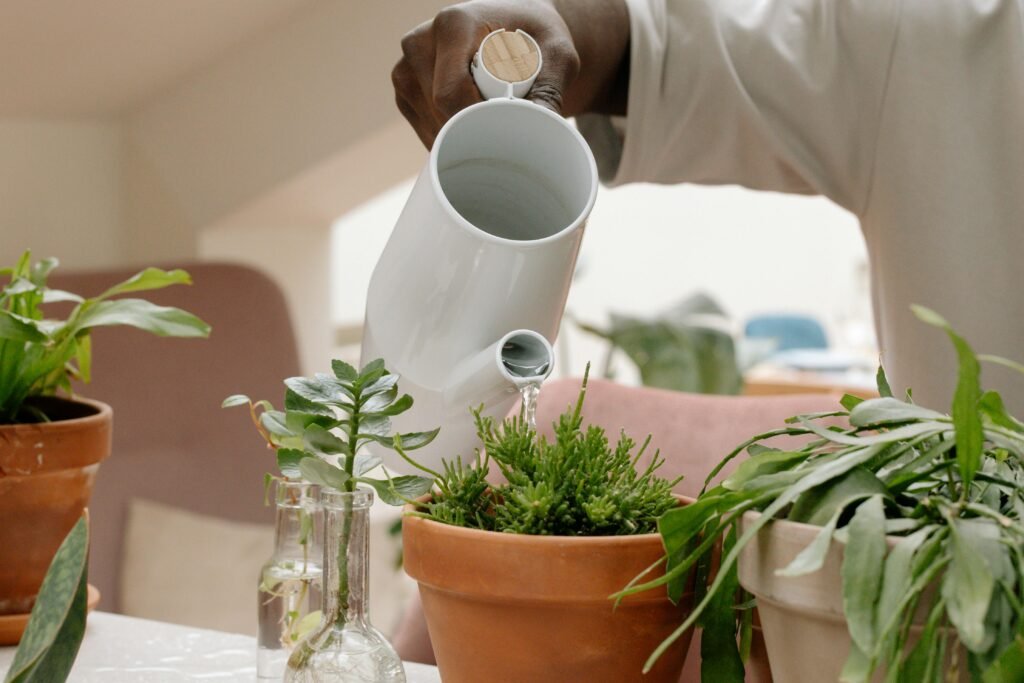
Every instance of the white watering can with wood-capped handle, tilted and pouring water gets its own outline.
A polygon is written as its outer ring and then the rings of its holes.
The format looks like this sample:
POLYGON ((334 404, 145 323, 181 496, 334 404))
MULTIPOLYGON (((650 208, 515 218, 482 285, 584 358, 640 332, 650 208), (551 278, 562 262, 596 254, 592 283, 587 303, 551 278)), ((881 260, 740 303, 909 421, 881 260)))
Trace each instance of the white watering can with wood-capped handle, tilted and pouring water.
POLYGON ((395 431, 441 427, 413 454, 433 469, 472 457, 471 408, 504 417, 554 365, 597 167, 575 128, 517 98, 540 69, 525 33, 484 38, 472 72, 487 99, 437 134, 370 282, 362 362, 384 358, 415 400, 395 431))

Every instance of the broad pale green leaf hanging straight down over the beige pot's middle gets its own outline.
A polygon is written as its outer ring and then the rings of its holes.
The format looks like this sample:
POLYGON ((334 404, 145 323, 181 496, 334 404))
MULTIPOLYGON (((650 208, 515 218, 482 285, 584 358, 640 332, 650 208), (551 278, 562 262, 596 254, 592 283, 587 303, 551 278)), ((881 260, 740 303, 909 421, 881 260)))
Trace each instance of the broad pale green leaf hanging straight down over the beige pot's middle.
POLYGON ((886 557, 885 521, 881 496, 861 503, 850 520, 850 540, 843 555, 843 613, 850 637, 862 652, 873 652, 878 637, 874 604, 886 557))

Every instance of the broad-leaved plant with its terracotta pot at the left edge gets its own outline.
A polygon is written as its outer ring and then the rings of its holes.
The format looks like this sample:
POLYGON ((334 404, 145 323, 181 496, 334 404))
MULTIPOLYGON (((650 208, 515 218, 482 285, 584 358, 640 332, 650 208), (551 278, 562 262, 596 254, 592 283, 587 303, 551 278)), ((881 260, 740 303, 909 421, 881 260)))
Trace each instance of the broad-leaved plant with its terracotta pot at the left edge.
POLYGON ((177 308, 120 295, 189 284, 183 270, 146 268, 92 298, 49 289, 57 265, 25 254, 0 269, 0 614, 29 612, 63 538, 81 518, 111 446, 110 407, 72 395, 89 381, 90 332, 131 326, 161 336, 206 337, 177 308), (48 317, 49 304, 73 308, 48 317))

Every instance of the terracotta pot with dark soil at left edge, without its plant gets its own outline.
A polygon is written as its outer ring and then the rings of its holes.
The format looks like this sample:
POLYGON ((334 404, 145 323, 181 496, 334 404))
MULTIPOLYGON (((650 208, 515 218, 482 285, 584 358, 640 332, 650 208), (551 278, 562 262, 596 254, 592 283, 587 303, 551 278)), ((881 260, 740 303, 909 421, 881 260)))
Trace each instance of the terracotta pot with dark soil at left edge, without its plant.
POLYGON ((82 516, 111 453, 111 408, 37 398, 52 422, 0 425, 0 614, 23 614, 63 538, 82 516))

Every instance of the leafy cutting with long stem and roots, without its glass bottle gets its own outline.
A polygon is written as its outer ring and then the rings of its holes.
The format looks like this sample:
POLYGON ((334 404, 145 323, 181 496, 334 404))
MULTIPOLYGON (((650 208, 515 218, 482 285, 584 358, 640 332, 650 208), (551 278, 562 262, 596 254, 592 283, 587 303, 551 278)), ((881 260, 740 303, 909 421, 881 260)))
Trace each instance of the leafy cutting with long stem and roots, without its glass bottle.
MULTIPOLYGON (((415 450, 430 443, 438 430, 391 433, 390 418, 413 405, 408 394, 398 394, 398 376, 389 373, 383 360, 367 364, 361 370, 341 360, 332 362, 332 375, 293 377, 285 380, 285 410, 278 411, 266 401, 253 402, 243 395, 230 396, 225 405, 249 404, 257 429, 276 452, 278 467, 287 479, 306 480, 341 496, 340 536, 336 556, 330 558, 336 569, 337 586, 328 586, 325 569, 325 596, 331 594, 333 605, 326 609, 316 628, 296 647, 289 660, 289 678, 301 678, 315 655, 316 641, 330 639, 330 633, 344 634, 350 600, 365 599, 351 595, 350 543, 353 528, 353 496, 357 484, 371 486, 385 503, 400 505, 408 498, 426 493, 431 480, 419 476, 368 476, 380 458, 366 453, 364 446, 377 443, 387 449, 400 443, 415 450)), ((329 529, 330 532, 330 529, 329 529)), ((330 541, 330 539, 329 539, 330 541)), ((339 636, 343 637, 343 636, 339 636)), ((343 645, 339 645, 342 646, 343 645)), ((316 673, 311 678, 316 680, 316 673)), ((304 680, 304 679, 301 679, 304 680)))

